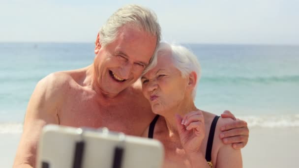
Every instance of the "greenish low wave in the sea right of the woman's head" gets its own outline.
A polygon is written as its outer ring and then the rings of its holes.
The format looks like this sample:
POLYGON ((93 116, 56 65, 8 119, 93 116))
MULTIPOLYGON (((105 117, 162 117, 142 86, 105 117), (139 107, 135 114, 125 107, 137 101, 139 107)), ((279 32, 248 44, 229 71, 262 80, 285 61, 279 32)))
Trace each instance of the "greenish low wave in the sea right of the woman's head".
POLYGON ((203 77, 202 82, 212 83, 299 83, 299 75, 269 77, 203 77))

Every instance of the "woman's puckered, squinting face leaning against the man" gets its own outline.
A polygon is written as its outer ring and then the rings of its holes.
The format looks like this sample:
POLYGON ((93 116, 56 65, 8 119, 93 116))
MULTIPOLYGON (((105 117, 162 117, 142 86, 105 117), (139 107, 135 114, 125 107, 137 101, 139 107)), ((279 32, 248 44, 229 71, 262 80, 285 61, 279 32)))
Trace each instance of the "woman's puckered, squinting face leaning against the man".
POLYGON ((154 113, 162 114, 179 107, 188 84, 174 66, 170 52, 158 54, 157 65, 142 78, 142 91, 154 113))

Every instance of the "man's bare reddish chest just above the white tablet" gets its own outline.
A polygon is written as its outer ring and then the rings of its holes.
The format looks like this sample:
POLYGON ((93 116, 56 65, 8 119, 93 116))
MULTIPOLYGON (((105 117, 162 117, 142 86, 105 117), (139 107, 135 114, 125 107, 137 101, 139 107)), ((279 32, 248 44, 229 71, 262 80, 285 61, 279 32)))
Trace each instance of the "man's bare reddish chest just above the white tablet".
POLYGON ((61 125, 73 127, 107 127, 129 135, 141 135, 149 125, 150 109, 132 102, 99 105, 92 99, 66 101, 59 110, 61 125))

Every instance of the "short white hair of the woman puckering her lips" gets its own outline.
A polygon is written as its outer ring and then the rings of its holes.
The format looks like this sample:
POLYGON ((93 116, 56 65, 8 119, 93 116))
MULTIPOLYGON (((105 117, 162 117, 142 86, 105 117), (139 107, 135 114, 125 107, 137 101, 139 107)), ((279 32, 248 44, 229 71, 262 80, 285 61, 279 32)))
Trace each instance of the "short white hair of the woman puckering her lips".
POLYGON ((197 57, 190 50, 183 46, 169 44, 166 42, 159 43, 159 46, 155 52, 155 56, 144 70, 142 76, 157 65, 157 56, 167 53, 171 53, 173 63, 175 67, 179 69, 182 78, 187 78, 188 75, 193 71, 196 73, 197 81, 192 91, 192 97, 195 99, 197 84, 199 83, 199 79, 201 77, 201 66, 197 57))

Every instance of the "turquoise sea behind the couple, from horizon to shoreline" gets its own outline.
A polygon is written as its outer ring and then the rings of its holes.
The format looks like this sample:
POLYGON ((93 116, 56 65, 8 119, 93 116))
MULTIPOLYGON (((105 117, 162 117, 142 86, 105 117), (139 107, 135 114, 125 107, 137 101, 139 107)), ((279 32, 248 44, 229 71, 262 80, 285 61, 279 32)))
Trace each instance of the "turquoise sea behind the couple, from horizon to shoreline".
MULTIPOLYGON (((299 127, 299 46, 183 44, 202 75, 195 104, 251 127, 299 127)), ((30 95, 56 71, 85 67, 92 43, 0 43, 0 133, 20 133, 30 95)))

